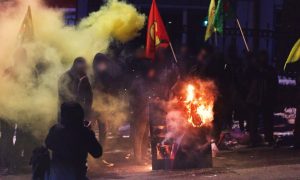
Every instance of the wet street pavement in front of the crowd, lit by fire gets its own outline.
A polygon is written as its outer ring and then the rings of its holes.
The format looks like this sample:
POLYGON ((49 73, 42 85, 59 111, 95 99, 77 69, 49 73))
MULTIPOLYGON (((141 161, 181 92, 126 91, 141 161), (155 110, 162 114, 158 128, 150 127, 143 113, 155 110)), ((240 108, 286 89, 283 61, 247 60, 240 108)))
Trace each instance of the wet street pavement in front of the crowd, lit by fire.
MULTIPOLYGON (((128 143, 124 143, 128 146, 128 143)), ((300 179, 300 151, 288 147, 246 148, 222 151, 213 168, 180 171, 152 171, 151 165, 136 165, 128 158, 130 148, 106 151, 105 159, 89 161, 90 179, 300 179)), ((30 179, 29 174, 3 176, 3 180, 30 179)))

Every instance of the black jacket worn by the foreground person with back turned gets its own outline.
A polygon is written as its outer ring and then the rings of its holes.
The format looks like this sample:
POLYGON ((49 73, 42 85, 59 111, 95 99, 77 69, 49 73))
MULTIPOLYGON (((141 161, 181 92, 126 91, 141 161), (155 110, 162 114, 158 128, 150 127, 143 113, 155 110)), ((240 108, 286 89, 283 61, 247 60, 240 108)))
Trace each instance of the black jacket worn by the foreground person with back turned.
POLYGON ((48 149, 52 150, 52 161, 74 168, 78 177, 86 174, 88 153, 98 158, 102 147, 93 131, 85 128, 66 128, 54 125, 45 140, 48 149))

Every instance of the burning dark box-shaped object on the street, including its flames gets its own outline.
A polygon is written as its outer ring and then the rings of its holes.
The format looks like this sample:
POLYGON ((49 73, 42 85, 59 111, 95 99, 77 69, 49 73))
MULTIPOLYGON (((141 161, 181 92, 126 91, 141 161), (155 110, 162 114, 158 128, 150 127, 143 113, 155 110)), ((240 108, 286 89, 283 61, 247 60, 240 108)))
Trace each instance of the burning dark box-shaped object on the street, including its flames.
POLYGON ((154 170, 212 166, 210 134, 215 95, 211 81, 184 81, 173 88, 168 107, 157 102, 150 106, 154 170))

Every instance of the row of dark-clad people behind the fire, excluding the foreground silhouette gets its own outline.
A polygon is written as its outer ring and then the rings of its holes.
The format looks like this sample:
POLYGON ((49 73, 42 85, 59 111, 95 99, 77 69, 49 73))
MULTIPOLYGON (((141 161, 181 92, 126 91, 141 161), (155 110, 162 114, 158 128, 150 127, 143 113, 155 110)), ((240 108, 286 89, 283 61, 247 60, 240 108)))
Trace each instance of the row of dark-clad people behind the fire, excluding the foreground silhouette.
MULTIPOLYGON (((92 109, 93 93, 114 95, 128 91, 134 156, 137 162, 142 162, 148 147, 148 104, 157 99, 167 100, 178 81, 209 79, 214 81, 219 91, 214 109, 215 140, 219 139, 222 130, 232 127, 234 116, 240 122, 241 131, 249 132, 250 145, 258 146, 261 143, 258 126, 260 117, 263 117, 264 142, 271 146, 274 143, 272 114, 276 105, 277 74, 269 65, 265 51, 246 53, 243 58, 235 53, 229 53, 224 58, 211 46, 203 46, 193 56, 187 46, 182 46, 178 62, 167 49, 158 49, 155 59, 150 60, 145 57, 144 50, 138 48, 132 56, 122 61, 97 54, 92 63, 92 76, 88 75, 86 61, 76 58, 72 68, 60 78, 60 102, 80 103, 85 119, 91 121, 97 119, 97 113, 92 109)), ((99 129, 102 130, 100 136, 104 143, 107 125, 100 125, 103 126, 99 129)))

